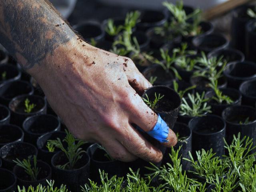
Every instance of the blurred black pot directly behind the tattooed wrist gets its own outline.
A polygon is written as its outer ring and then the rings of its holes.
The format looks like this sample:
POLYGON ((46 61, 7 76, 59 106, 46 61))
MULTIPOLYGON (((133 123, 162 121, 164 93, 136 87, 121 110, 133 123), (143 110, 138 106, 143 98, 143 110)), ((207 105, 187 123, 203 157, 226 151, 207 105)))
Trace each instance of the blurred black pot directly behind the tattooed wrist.
POLYGON ((98 22, 86 21, 73 26, 74 30, 78 31, 84 40, 90 41, 92 38, 97 42, 103 40, 105 31, 98 22))

